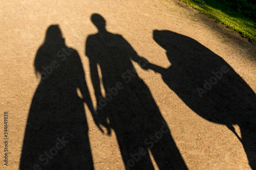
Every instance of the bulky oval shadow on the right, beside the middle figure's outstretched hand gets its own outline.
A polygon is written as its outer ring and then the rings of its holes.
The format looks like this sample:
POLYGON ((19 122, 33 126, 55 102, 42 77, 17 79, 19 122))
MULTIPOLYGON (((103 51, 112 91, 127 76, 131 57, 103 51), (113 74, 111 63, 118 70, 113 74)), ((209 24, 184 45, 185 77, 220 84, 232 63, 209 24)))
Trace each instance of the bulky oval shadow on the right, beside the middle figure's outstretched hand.
POLYGON ((165 69, 148 63, 163 81, 198 115, 226 125, 242 142, 252 169, 256 169, 256 97, 253 90, 220 56, 196 40, 171 31, 153 33, 166 50, 165 69), (241 137, 232 125, 239 125, 241 137))

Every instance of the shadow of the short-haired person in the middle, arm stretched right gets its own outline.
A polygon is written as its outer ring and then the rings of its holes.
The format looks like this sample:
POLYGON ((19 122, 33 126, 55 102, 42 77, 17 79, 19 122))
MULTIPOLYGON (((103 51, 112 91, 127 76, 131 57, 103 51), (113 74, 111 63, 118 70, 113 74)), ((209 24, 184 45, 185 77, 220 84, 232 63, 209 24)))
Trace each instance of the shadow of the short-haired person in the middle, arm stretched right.
POLYGON ((154 169, 150 152, 160 169, 187 169, 150 90, 131 60, 144 69, 147 61, 121 35, 106 31, 101 15, 93 14, 91 20, 98 29, 86 41, 97 98, 95 122, 108 128, 109 134, 110 128, 115 131, 126 169, 154 169))

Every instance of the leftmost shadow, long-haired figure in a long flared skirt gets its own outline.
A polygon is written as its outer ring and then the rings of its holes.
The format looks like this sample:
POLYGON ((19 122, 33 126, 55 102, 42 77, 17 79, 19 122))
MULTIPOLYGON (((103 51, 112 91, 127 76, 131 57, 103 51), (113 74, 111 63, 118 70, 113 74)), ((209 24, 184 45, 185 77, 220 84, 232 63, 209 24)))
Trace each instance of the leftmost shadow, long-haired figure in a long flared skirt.
POLYGON ((20 169, 94 169, 83 100, 93 111, 78 53, 58 25, 35 56, 41 76, 28 115, 20 169), (77 89, 83 96, 79 98, 77 89))

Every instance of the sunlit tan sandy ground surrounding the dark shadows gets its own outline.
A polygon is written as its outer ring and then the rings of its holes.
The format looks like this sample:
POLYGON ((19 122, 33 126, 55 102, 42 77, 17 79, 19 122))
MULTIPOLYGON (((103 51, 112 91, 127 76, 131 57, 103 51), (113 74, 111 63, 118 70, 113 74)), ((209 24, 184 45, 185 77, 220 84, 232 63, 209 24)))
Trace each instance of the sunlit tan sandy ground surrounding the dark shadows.
MULTIPOLYGON (((171 63, 165 50, 154 41, 153 31, 169 30, 193 38, 224 59, 256 92, 256 47, 178 1, 2 1, 0 13, 0 169, 19 169, 27 118, 40 82, 34 59, 51 25, 59 25, 66 45, 78 52, 95 107, 89 59, 85 55, 87 37, 97 32, 90 19, 93 13, 103 16, 106 30, 122 35, 139 56, 164 68, 171 63), (3 163, 4 112, 8 112, 8 166, 3 163)), ((160 74, 134 65, 150 89, 188 169, 251 169, 242 143, 226 126, 209 122, 191 110, 160 74)), ((125 169, 115 132, 111 136, 102 134, 87 105, 84 107, 94 168, 125 169)), ((241 135, 239 127, 234 128, 241 135)), ((152 156, 151 159, 158 169, 152 156)))

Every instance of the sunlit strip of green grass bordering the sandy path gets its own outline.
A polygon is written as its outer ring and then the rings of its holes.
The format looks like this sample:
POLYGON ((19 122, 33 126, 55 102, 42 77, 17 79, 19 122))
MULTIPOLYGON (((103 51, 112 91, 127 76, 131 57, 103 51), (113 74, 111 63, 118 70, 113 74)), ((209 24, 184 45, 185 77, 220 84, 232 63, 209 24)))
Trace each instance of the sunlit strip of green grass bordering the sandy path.
POLYGON ((227 28, 240 33, 256 44, 256 23, 241 12, 228 6, 225 1, 220 0, 180 0, 200 11, 200 13, 209 15, 217 22, 223 23, 227 28))

